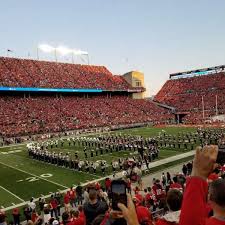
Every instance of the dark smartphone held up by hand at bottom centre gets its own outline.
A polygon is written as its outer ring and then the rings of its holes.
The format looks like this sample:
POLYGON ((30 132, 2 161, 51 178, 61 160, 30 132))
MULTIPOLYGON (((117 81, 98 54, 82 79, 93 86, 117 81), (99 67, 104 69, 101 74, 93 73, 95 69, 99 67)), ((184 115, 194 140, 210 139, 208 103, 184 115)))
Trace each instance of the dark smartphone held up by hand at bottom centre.
POLYGON ((112 209, 120 210, 118 203, 127 205, 126 183, 123 180, 113 180, 111 183, 112 209))

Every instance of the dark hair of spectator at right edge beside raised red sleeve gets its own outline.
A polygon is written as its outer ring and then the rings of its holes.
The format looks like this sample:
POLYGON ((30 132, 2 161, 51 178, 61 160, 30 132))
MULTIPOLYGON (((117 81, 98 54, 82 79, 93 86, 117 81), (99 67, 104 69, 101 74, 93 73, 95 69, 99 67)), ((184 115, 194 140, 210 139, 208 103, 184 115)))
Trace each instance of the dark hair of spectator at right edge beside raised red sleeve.
POLYGON ((209 199, 220 207, 225 207, 225 180, 218 179, 209 186, 209 199))

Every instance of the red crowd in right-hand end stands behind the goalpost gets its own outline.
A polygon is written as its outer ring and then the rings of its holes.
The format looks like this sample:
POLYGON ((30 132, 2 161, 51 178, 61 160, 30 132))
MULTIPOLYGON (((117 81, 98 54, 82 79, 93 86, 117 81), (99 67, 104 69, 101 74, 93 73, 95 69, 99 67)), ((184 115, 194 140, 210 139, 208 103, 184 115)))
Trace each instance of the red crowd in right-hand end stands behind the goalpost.
POLYGON ((187 122, 196 123, 205 118, 225 113, 225 73, 168 80, 154 98, 173 106, 177 112, 187 112, 187 122), (216 103, 217 102, 217 103, 216 103), (217 105, 217 106, 216 106, 217 105))

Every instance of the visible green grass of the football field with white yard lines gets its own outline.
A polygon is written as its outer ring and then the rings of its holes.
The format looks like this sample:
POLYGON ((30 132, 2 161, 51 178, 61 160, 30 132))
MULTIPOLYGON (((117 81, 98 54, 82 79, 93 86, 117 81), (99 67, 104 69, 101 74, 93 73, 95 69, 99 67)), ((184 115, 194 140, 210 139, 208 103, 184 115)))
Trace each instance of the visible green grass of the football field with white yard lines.
MULTIPOLYGON (((178 132, 193 132, 195 128, 163 128, 168 134, 177 135, 178 132)), ((126 133, 131 135, 142 135, 144 137, 157 136, 162 128, 135 128, 116 133, 126 133)), ((53 149, 54 151, 79 152, 83 157, 81 147, 69 146, 65 143, 63 148, 53 149)), ((159 159, 181 154, 184 149, 162 148, 159 159)), ((127 151, 113 152, 94 157, 92 160, 106 160, 109 164, 113 159, 126 157, 127 151)), ((107 171, 111 173, 111 168, 107 171)), ((6 208, 12 205, 28 201, 31 197, 38 198, 48 195, 51 192, 64 190, 78 182, 86 183, 91 180, 101 178, 100 171, 96 175, 72 171, 66 168, 59 168, 54 165, 39 162, 28 157, 25 145, 9 146, 0 148, 0 207, 6 208)))

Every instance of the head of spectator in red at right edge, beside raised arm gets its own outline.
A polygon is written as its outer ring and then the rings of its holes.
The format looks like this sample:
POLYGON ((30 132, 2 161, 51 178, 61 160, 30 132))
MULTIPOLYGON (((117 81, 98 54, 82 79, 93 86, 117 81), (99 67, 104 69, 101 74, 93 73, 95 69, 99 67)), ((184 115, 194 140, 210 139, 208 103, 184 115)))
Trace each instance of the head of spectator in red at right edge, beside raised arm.
POLYGON ((225 214, 225 180, 218 179, 209 186, 209 201, 214 213, 223 211, 225 214))

